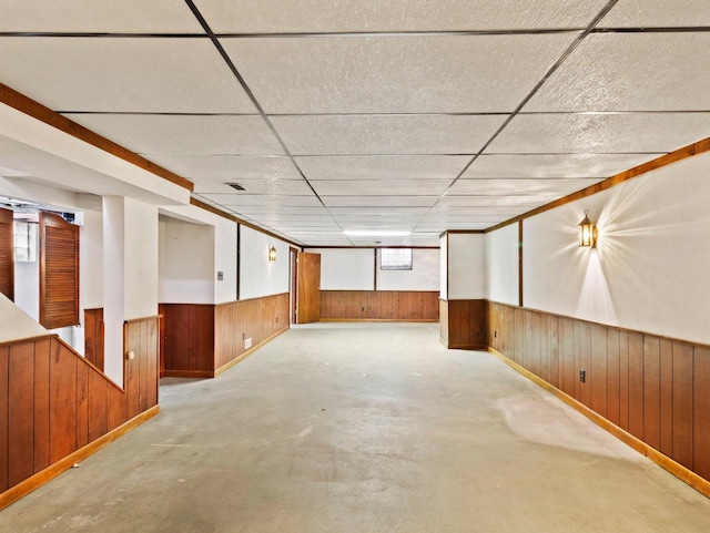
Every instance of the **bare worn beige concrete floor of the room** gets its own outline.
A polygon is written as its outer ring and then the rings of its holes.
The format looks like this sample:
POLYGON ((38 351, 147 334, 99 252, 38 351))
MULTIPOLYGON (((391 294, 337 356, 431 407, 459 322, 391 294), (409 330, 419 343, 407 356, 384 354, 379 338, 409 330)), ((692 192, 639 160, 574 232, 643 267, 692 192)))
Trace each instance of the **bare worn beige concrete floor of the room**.
POLYGON ((708 532, 710 500, 436 324, 292 329, 2 532, 708 532))

